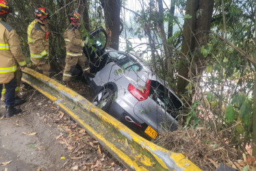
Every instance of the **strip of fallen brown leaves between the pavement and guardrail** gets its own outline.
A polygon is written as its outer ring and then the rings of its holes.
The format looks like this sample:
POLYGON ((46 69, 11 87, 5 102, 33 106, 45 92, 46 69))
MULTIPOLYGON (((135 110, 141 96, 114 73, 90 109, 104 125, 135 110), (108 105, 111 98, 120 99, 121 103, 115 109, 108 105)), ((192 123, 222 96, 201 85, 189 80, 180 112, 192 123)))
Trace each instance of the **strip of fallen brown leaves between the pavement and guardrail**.
MULTIPOLYGON (((55 109, 51 107, 51 109, 55 109)), ((94 140, 86 130, 79 127, 64 112, 57 112, 41 116, 47 124, 55 124, 60 134, 55 137, 60 144, 64 145, 70 155, 65 159, 71 159, 64 164, 67 170, 124 170, 119 162, 103 148, 99 142, 94 140), (114 162, 113 162, 114 160, 114 162)))

